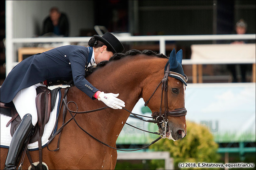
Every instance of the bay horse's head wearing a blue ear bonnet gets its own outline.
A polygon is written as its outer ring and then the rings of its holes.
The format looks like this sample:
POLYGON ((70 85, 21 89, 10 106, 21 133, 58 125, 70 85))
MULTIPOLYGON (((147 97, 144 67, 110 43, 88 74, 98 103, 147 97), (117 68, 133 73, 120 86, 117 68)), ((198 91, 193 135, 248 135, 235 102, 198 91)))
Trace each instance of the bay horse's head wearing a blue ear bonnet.
MULTIPOLYGON (((155 87, 144 90, 144 96, 149 97, 146 104, 152 111, 152 116, 159 121, 158 127, 162 137, 167 137, 174 141, 182 139, 187 134, 187 125, 185 115, 187 113, 185 106, 185 85, 187 77, 183 72, 182 50, 177 55, 175 49, 172 51, 165 70, 161 70, 161 74, 152 75, 151 83, 156 84, 155 87), (165 73, 165 75, 164 75, 165 73), (157 78, 156 78, 157 77, 157 78), (159 84, 159 82, 161 83, 159 84), (159 86, 157 86, 159 85, 159 86), (151 94, 150 94, 151 93, 151 94), (161 106, 161 107, 160 107, 161 106)), ((145 99, 147 100, 147 99, 145 99)))

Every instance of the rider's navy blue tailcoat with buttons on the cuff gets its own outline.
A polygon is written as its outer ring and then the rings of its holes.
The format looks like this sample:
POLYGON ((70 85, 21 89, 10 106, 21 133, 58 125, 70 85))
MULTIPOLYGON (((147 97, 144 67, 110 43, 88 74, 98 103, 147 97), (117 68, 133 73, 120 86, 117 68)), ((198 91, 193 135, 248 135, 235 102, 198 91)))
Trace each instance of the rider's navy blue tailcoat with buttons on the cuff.
POLYGON ((66 45, 32 55, 17 64, 1 86, 1 102, 11 102, 19 90, 47 80, 47 85, 74 85, 90 98, 98 91, 84 77, 90 63, 92 47, 66 45))

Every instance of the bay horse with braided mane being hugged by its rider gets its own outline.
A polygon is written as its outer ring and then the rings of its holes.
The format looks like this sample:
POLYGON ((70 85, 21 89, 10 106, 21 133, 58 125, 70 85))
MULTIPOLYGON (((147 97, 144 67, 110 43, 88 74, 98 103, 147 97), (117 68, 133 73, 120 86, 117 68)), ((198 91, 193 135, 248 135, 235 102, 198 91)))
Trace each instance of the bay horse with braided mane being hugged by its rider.
MULTIPOLYGON (((132 111, 140 98, 148 100, 148 107, 152 116, 159 113, 161 106, 161 86, 164 68, 168 57, 155 54, 153 51, 130 50, 125 54, 115 54, 104 66, 97 66, 86 79, 95 87, 105 93, 119 93, 118 98, 125 101, 125 108, 132 111), (117 59, 118 58, 118 59, 117 59)), ((98 64, 101 65, 101 64, 98 64)), ((89 71, 88 71, 89 72, 89 71)), ((168 110, 184 108, 185 85, 179 79, 168 78, 168 110)), ((65 89, 61 89, 63 96, 65 89)), ((91 100, 86 94, 71 86, 67 93, 68 101, 75 101, 78 111, 88 111, 104 107, 104 103, 91 100)), ((76 111, 74 104, 69 109, 76 111)), ((60 108, 62 113, 63 108, 60 108)), ((116 148, 116 141, 130 113, 124 109, 107 108, 87 114, 77 114, 76 121, 85 131, 100 141, 116 148)), ((67 114, 66 121, 71 118, 67 114)), ((167 116, 167 136, 174 141, 186 136, 185 116, 167 116)), ((62 116, 58 118, 58 128, 62 124, 62 116)), ((162 133, 161 128, 159 132, 162 133)), ((58 137, 49 144, 50 149, 57 146, 58 137)), ((114 169, 117 161, 117 150, 107 147, 81 131, 74 121, 70 121, 63 128, 60 135, 59 150, 50 152, 47 147, 42 149, 43 162, 49 169, 114 169)), ((4 168, 8 149, 1 148, 1 169, 4 168)), ((38 151, 30 151, 34 162, 39 160, 38 151)), ((23 169, 30 166, 25 157, 23 169)))

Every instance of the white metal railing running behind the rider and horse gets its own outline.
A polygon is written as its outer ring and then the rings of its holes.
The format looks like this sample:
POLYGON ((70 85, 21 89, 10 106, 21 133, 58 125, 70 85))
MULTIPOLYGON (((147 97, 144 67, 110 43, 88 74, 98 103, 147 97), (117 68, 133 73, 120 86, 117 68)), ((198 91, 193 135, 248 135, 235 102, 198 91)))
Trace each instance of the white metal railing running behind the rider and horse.
MULTIPOLYGON (((223 34, 223 35, 155 35, 155 36, 117 36, 121 42, 159 42, 160 53, 166 54, 166 41, 202 41, 202 40, 237 40, 237 39, 254 39, 256 34, 223 34)), ((12 38, 6 35, 6 75, 12 68, 18 64, 14 61, 14 44, 19 43, 62 43, 69 45, 71 43, 87 43, 90 37, 61 37, 61 38, 12 38)), ((211 64, 213 61, 202 63, 202 61, 186 59, 182 64, 211 64)), ((223 63, 223 61, 215 61, 213 64, 223 63)), ((255 60, 236 60, 225 61, 225 63, 255 63, 255 60)))

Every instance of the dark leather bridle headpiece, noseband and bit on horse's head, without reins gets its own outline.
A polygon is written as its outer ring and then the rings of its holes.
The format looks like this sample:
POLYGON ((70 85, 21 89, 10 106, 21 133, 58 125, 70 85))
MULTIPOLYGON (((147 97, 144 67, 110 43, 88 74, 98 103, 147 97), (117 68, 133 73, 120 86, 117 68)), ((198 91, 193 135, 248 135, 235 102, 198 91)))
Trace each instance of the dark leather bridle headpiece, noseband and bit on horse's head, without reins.
MULTIPOLYGON (((168 64, 167 68, 170 67, 170 64, 168 64)), ((178 116, 186 116, 187 115, 187 110, 186 108, 180 108, 180 109, 174 109, 172 111, 169 111, 168 109, 168 95, 167 95, 167 89, 168 89, 168 76, 170 74, 170 71, 165 70, 165 75, 163 77, 163 79, 161 80, 161 82, 157 85, 155 91, 158 89, 158 87, 162 84, 161 90, 161 104, 160 104, 160 109, 159 109, 159 115, 158 116, 154 116, 153 119, 155 119, 157 121, 157 125, 158 126, 162 126, 162 128, 165 127, 165 131, 163 135, 163 138, 166 137, 166 126, 167 126, 167 116, 173 116, 173 117, 178 117, 178 116), (164 93, 164 113, 162 113, 162 102, 163 102, 163 93, 164 93)), ((150 96, 149 100, 153 97, 153 95, 155 94, 155 91, 153 92, 153 94, 150 96)), ((144 106, 147 106, 147 104, 149 103, 149 100, 147 100, 144 104, 144 106)))

